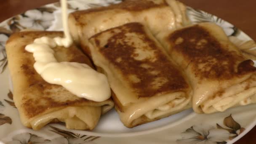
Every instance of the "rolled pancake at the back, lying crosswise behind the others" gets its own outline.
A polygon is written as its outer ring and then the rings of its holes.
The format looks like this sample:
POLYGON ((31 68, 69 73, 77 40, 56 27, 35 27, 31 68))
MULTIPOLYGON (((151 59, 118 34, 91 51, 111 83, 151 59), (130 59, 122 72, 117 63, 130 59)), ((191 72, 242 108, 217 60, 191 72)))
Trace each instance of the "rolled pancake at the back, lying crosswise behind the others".
POLYGON ((186 20, 185 10, 185 6, 176 0, 125 0, 107 7, 70 13, 69 28, 75 42, 90 54, 88 38, 96 33, 141 22, 155 35, 162 30, 180 27, 186 20))

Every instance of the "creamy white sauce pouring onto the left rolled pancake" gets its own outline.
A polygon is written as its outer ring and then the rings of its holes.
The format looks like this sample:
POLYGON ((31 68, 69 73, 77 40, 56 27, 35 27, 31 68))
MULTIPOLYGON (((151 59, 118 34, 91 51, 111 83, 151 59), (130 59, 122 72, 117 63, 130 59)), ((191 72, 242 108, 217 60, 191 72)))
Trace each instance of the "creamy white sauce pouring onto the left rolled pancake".
POLYGON ((51 84, 62 85, 71 93, 92 101, 105 101, 110 98, 111 91, 107 77, 87 64, 76 62, 58 62, 52 48, 69 47, 72 38, 67 25, 67 1, 61 0, 62 21, 65 37, 40 37, 25 47, 33 53, 34 68, 43 79, 51 84))

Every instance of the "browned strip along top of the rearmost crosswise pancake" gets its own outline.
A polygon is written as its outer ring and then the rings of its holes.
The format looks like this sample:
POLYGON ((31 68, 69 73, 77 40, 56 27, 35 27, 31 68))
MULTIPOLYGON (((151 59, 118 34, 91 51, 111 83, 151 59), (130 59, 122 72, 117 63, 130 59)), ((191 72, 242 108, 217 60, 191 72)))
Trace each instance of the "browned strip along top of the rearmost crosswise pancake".
POLYGON ((75 19, 78 21, 81 16, 85 13, 93 13, 98 11, 106 11, 106 10, 114 10, 114 9, 122 9, 127 11, 143 11, 149 8, 161 7, 161 6, 168 6, 165 0, 162 3, 157 4, 150 0, 125 0, 122 3, 109 5, 107 7, 99 7, 99 8, 90 8, 83 11, 75 11, 71 13, 75 19))

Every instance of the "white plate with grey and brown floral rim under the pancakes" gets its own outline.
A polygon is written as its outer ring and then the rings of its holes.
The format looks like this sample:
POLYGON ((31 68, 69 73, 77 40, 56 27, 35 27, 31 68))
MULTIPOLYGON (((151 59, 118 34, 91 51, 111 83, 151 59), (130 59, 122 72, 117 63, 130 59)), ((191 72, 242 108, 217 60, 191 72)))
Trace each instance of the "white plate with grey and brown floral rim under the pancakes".
MULTIPOLYGON (((119 3, 120 0, 69 0, 69 12, 119 3)), ((5 41, 25 28, 62 30, 60 4, 53 3, 26 11, 0 23, 0 140, 7 144, 232 144, 256 125, 256 104, 235 107, 225 112, 198 115, 187 109, 176 115, 126 128, 114 109, 101 117, 93 131, 68 130, 50 124, 40 131, 25 128, 12 97, 5 41)), ((228 36, 251 40, 232 24, 204 11, 187 7, 193 23, 213 22, 228 36)))

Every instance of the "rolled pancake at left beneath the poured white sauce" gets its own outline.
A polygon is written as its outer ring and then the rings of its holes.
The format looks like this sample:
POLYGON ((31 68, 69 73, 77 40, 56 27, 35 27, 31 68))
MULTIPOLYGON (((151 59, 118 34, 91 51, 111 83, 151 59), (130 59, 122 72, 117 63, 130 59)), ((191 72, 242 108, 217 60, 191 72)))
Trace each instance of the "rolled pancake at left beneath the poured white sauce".
MULTIPOLYGON (((45 82, 35 71, 32 53, 25 46, 39 37, 63 36, 62 32, 19 32, 11 35, 6 43, 8 67, 13 82, 13 101, 21 123, 39 130, 48 123, 64 122, 67 128, 93 129, 104 114, 114 106, 111 99, 102 102, 79 98, 61 85, 45 82)), ((92 67, 90 60, 75 45, 53 48, 56 59, 79 62, 92 67)))

